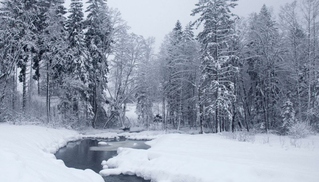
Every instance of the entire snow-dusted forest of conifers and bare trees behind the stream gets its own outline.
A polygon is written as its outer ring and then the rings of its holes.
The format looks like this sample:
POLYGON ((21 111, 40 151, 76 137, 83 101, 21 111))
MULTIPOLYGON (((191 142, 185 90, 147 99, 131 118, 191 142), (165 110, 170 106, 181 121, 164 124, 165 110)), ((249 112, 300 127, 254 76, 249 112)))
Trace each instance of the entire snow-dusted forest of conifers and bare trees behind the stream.
POLYGON ((3 0, 0 122, 307 134, 319 128, 319 1, 199 0, 159 51, 105 0, 3 0), (68 13, 68 16, 66 14, 68 13), (88 12, 85 17, 84 12, 88 12), (198 35, 193 29, 199 28, 198 35), (21 83, 21 88, 18 86, 21 83), (137 120, 126 116, 136 105, 137 120))

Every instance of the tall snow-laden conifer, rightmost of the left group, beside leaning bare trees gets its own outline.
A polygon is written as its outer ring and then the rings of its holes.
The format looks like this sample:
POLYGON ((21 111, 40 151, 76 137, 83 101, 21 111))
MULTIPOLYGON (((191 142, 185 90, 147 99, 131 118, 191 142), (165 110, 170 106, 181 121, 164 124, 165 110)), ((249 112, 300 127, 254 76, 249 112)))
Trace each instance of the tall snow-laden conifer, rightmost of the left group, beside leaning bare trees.
MULTIPOLYGON (((85 10, 88 12, 85 20, 85 43, 88 47, 90 62, 92 67, 89 75, 89 102, 92 106, 91 123, 95 127, 98 112, 105 116, 103 106, 107 103, 105 88, 107 84, 108 63, 106 55, 109 54, 111 39, 109 33, 112 30, 106 0, 89 0, 89 6, 85 10)), ((91 109, 91 108, 89 108, 91 109)))

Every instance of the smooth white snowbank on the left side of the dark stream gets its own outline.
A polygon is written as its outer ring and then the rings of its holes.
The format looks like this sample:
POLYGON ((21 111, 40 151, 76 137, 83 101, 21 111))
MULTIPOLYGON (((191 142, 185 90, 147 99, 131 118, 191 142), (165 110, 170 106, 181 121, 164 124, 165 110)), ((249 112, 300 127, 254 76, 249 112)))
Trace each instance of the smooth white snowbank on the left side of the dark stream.
POLYGON ((68 168, 53 155, 80 138, 66 129, 0 124, 0 181, 104 182, 94 171, 68 168))

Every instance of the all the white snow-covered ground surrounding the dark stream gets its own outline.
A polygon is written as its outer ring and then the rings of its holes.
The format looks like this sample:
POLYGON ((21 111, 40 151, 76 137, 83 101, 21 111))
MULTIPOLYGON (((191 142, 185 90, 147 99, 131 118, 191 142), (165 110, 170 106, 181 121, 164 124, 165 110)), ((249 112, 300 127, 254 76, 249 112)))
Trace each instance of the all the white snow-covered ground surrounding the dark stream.
POLYGON ((163 131, 79 133, 0 124, 0 181, 102 182, 103 178, 92 170, 66 167, 53 153, 68 141, 120 136, 154 140, 146 142, 151 146, 148 150, 118 148, 119 155, 106 163, 111 169, 100 171, 103 176, 136 174, 156 182, 319 181, 319 136, 294 140, 260 134, 250 142, 238 142, 227 139, 226 133, 176 132, 168 131, 175 134, 167 135, 163 131))

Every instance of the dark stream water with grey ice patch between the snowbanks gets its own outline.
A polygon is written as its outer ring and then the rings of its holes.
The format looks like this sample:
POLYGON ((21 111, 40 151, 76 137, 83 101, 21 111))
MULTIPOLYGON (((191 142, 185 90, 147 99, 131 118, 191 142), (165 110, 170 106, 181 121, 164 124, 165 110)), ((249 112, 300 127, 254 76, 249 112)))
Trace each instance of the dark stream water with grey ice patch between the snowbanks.
MULTIPOLYGON (((76 169, 92 169, 96 173, 102 170, 101 162, 117 155, 118 147, 149 149, 142 140, 120 139, 83 139, 75 142, 68 142, 67 145, 59 149, 55 156, 56 159, 63 160, 67 167, 76 169), (98 145, 104 141, 108 145, 98 145)), ((103 177, 107 182, 149 182, 143 178, 131 175, 116 175, 103 177)))

